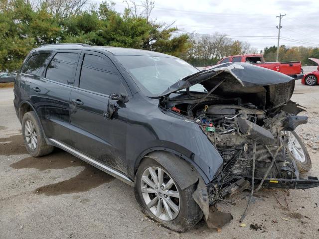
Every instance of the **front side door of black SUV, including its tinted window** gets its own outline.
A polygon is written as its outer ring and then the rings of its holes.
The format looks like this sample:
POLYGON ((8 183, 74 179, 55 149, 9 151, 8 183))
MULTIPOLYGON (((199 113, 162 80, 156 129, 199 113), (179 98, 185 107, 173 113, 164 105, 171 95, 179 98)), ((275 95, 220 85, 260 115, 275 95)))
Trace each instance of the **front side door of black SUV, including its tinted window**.
POLYGON ((127 95, 122 77, 107 56, 82 51, 76 78, 70 97, 71 146, 126 173, 126 104, 109 100, 112 92, 127 95), (108 104, 116 108, 112 119, 106 118, 108 104))

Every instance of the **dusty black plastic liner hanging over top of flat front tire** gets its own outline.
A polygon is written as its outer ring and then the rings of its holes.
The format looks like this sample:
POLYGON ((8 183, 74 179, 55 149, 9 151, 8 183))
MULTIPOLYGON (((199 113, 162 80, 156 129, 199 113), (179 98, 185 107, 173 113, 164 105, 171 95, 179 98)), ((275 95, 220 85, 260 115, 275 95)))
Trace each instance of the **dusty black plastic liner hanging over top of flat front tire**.
POLYGON ((165 151, 154 151, 146 155, 145 158, 152 158, 166 168, 175 180, 178 181, 179 187, 182 190, 195 184, 201 178, 191 164, 175 154, 165 151))

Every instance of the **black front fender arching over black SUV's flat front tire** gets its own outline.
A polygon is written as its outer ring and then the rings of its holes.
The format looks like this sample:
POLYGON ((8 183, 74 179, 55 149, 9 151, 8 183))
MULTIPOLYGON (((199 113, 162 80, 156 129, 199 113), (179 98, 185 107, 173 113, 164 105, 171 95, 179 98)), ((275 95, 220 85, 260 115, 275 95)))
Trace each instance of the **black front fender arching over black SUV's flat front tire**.
POLYGON ((168 119, 153 118, 152 124, 139 125, 136 129, 131 124, 128 128, 128 135, 139 135, 139 140, 127 142, 129 160, 135 161, 132 162, 134 172, 130 172, 132 178, 145 155, 155 150, 166 150, 190 162, 206 184, 211 182, 223 163, 218 150, 197 123, 174 117, 168 119))

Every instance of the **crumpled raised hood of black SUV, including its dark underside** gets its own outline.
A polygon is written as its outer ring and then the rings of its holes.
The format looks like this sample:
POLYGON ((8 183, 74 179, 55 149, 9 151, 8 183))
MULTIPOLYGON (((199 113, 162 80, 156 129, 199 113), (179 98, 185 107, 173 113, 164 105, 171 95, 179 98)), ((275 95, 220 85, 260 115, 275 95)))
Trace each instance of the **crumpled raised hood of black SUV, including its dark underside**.
POLYGON ((207 91, 226 79, 213 92, 226 98, 238 97, 259 109, 274 109, 286 104, 294 91, 294 78, 248 63, 223 63, 188 75, 171 85, 159 97, 201 84, 207 91))

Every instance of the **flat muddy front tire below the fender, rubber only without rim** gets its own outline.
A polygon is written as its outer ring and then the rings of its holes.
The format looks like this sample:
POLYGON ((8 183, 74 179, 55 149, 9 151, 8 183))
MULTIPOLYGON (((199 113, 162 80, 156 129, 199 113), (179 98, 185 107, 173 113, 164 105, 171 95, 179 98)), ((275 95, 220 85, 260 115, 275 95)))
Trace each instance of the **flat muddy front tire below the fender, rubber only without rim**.
POLYGON ((195 226, 203 217, 203 213, 197 203, 193 200, 192 194, 196 190, 196 185, 191 185, 188 188, 181 190, 179 182, 175 180, 174 175, 171 175, 168 169, 164 168, 157 161, 146 158, 140 164, 135 177, 135 197, 142 208, 142 212, 150 219, 160 223, 165 228, 175 232, 185 232, 195 226), (171 221, 163 221, 155 216, 145 203, 142 196, 141 179, 143 172, 149 167, 160 167, 173 179, 180 195, 180 210, 178 215, 171 221))

